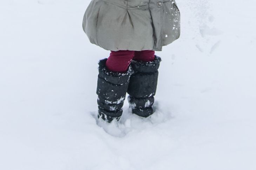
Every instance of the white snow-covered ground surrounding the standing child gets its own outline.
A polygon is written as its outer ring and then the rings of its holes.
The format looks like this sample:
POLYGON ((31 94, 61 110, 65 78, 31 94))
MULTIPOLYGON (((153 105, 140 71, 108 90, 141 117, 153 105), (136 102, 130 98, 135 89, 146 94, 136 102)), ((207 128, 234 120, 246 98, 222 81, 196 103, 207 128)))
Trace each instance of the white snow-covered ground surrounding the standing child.
POLYGON ((256 2, 176 0, 156 112, 96 122, 89 0, 0 0, 1 170, 255 170, 256 2))

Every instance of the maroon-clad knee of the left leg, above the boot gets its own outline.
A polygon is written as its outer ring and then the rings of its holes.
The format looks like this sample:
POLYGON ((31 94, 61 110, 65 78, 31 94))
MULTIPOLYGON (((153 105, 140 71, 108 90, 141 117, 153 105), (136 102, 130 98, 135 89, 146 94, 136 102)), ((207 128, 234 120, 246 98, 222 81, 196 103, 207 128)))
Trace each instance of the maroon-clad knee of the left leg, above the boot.
POLYGON ((110 71, 126 72, 133 57, 134 57, 134 51, 129 51, 129 50, 111 51, 106 62, 106 67, 110 71))

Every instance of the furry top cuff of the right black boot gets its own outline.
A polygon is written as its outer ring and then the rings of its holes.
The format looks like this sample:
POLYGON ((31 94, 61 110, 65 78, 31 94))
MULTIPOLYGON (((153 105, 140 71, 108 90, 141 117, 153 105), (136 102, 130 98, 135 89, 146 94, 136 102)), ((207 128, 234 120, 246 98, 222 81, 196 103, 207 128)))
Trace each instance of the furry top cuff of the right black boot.
POLYGON ((152 73, 158 70, 161 61, 161 58, 155 55, 155 60, 151 62, 133 60, 132 67, 135 72, 152 73))

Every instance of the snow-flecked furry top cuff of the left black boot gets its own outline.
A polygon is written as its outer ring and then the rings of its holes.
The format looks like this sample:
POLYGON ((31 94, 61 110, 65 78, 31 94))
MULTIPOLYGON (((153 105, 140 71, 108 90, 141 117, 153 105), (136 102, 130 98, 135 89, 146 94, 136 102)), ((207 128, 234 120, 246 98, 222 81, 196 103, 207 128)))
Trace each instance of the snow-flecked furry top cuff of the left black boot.
POLYGON ((99 61, 99 77, 105 79, 115 85, 122 85, 128 83, 132 68, 129 66, 128 71, 125 73, 113 72, 106 68, 107 58, 99 61))

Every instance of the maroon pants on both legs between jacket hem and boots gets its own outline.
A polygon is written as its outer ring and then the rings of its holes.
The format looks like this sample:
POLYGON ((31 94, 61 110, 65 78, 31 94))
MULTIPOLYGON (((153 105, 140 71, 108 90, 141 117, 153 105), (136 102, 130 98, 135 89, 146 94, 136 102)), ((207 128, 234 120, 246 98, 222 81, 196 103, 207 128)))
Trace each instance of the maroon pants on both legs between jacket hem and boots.
POLYGON ((155 51, 143 50, 143 51, 129 51, 119 50, 111 51, 110 56, 107 59, 106 67, 110 71, 114 72, 126 72, 132 60, 149 62, 154 61, 155 51))

